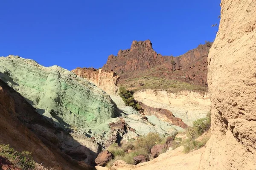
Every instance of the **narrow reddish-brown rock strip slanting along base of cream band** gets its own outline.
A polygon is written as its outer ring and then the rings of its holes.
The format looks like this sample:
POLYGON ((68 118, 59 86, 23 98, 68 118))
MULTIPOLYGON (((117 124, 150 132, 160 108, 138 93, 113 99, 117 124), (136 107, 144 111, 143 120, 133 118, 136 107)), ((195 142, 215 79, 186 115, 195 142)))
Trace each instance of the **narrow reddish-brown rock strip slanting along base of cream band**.
POLYGON ((148 115, 148 116, 154 115, 162 121, 170 122, 173 125, 182 127, 183 129, 186 129, 188 127, 186 123, 182 122, 180 118, 175 117, 172 114, 172 112, 167 109, 152 108, 150 106, 144 105, 142 102, 139 102, 139 104, 143 109, 143 112, 142 112, 143 115, 148 115))

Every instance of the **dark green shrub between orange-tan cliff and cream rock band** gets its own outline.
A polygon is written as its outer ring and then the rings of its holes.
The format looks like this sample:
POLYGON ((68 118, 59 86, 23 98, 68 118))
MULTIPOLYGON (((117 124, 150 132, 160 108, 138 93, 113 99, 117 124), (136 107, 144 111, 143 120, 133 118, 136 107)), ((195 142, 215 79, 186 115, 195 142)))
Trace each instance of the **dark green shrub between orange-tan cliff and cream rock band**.
POLYGON ((124 87, 120 87, 119 96, 123 99, 125 105, 131 106, 135 108, 137 111, 141 109, 139 103, 136 100, 134 100, 134 96, 131 91, 127 91, 124 87))

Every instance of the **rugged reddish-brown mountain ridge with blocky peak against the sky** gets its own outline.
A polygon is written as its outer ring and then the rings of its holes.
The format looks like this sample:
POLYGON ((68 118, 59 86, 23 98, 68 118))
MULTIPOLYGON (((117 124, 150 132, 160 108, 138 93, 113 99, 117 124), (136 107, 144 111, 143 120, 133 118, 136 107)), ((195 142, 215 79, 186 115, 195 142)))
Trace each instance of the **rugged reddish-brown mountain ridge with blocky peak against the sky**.
POLYGON ((121 75, 120 83, 145 71, 155 69, 152 76, 166 77, 198 85, 207 85, 207 56, 212 43, 199 45, 179 57, 162 56, 153 50, 150 40, 133 41, 131 49, 110 55, 105 70, 121 75))

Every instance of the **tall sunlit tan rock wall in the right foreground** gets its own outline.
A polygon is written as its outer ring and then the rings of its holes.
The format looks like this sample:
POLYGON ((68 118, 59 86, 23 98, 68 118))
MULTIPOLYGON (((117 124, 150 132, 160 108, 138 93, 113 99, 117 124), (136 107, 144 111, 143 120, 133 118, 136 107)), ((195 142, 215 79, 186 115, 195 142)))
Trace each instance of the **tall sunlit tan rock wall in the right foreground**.
POLYGON ((200 170, 256 169, 256 1, 221 0, 208 58, 212 136, 200 170))

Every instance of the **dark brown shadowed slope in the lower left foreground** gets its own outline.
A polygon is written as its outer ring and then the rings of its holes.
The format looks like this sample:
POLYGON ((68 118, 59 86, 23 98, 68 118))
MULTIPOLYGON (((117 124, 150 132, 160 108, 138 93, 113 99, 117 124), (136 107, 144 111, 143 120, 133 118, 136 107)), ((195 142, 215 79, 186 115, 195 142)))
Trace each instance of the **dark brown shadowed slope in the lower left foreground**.
MULTIPOLYGON (((0 136, 2 144, 10 144, 15 150, 32 152, 34 160, 43 166, 56 170, 91 169, 85 164, 94 161, 96 153, 82 143, 77 142, 65 130, 53 126, 41 116, 20 94, 0 80, 0 136), (63 152, 67 146, 62 139, 69 138, 70 151, 63 152), (71 143, 73 142, 73 144, 71 143), (76 143, 76 145, 75 145, 76 143), (76 159, 76 146, 83 152, 84 158, 76 159), (94 156, 94 157, 93 157, 94 156)), ((87 139, 89 143, 90 139, 87 139)), ((90 143, 93 143, 90 142, 90 143)), ((95 146, 97 144, 95 143, 95 146)), ((96 150, 95 150, 96 151, 96 150)))

